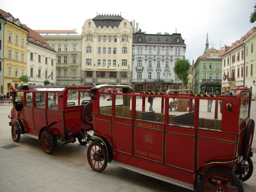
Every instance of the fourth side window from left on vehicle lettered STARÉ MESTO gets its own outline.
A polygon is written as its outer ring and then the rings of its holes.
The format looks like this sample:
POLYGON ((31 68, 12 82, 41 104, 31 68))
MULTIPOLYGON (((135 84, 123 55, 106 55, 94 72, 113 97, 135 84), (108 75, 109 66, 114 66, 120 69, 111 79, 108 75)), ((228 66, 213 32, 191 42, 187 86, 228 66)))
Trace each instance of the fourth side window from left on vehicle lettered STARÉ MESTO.
POLYGON ((169 98, 169 124, 194 127, 194 99, 169 98))

